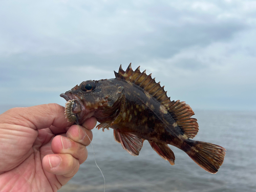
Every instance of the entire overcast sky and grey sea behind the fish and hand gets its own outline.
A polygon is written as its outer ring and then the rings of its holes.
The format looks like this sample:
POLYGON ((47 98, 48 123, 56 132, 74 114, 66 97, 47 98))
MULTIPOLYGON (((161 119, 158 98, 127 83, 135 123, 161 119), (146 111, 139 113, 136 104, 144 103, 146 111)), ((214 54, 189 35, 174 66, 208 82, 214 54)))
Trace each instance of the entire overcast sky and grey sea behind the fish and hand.
MULTIPOLYGON (((195 139, 222 145, 217 175, 185 153, 170 166, 144 143, 130 156, 113 131, 94 130, 106 191, 256 191, 256 1, 0 0, 0 113, 15 106, 65 105, 84 80, 141 66, 171 100, 195 111, 195 139), (254 139, 253 139, 254 138, 254 139)), ((60 191, 103 191, 89 159, 60 191)))

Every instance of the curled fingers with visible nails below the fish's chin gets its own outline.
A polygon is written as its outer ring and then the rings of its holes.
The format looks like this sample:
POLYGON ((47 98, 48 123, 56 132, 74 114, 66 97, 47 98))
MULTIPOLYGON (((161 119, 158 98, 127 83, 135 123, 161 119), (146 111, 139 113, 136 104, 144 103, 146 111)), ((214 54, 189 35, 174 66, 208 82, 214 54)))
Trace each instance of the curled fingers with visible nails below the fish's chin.
POLYGON ((45 156, 42 166, 47 172, 57 175, 62 185, 77 173, 79 164, 87 159, 86 146, 93 138, 91 129, 95 125, 96 118, 92 117, 84 122, 85 127, 72 125, 66 133, 67 137, 58 135, 53 138, 51 146, 55 154, 45 156))

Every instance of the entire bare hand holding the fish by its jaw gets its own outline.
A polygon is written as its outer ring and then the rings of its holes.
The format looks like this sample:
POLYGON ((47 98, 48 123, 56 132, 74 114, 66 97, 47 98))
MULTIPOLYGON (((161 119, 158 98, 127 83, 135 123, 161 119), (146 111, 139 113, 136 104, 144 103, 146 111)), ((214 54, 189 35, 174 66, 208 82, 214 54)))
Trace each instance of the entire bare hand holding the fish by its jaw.
POLYGON ((0 115, 0 191, 57 191, 88 156, 95 117, 72 125, 55 103, 0 115), (87 135, 86 135, 87 134, 87 135))

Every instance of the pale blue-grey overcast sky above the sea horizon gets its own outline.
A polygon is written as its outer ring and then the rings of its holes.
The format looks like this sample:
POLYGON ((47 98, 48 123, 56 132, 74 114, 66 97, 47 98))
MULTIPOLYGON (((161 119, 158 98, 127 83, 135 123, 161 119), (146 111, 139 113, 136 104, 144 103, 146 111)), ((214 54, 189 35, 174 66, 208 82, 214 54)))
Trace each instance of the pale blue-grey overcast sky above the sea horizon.
POLYGON ((56 102, 120 64, 192 109, 255 111, 256 1, 0 0, 0 105, 56 102))

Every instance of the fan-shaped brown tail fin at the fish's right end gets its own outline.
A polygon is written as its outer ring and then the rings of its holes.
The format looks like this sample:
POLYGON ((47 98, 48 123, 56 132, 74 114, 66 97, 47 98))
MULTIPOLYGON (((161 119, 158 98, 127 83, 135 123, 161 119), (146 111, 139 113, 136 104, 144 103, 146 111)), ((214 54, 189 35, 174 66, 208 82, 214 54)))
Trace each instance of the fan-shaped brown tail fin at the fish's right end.
POLYGON ((216 174, 222 165, 225 157, 225 148, 202 141, 195 141, 187 155, 200 167, 211 174, 216 174))

